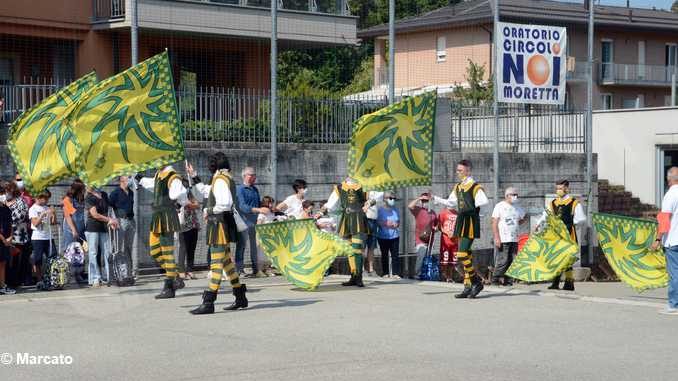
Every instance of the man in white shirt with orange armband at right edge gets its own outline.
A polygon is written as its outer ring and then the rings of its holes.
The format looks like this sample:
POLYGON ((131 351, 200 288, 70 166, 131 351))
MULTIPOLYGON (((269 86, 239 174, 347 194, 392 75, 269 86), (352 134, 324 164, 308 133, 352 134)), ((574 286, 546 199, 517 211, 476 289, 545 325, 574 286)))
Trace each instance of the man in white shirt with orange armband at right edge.
POLYGON ((672 167, 666 174, 669 186, 662 200, 662 211, 658 217, 659 228, 653 249, 663 243, 666 255, 666 270, 669 272, 669 305, 660 313, 678 316, 678 167, 672 167))

